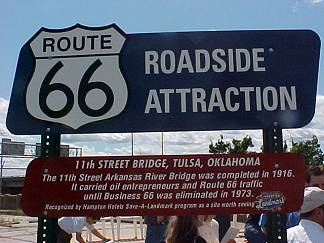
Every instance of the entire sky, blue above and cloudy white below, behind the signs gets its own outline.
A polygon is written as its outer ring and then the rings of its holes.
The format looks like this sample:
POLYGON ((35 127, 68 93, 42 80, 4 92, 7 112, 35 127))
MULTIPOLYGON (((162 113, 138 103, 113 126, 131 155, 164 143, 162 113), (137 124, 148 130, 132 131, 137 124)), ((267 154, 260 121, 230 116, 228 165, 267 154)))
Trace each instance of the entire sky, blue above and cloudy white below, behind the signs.
MULTIPOLYGON (((40 137, 16 136, 5 125, 11 89, 21 47, 41 28, 60 29, 76 23, 86 26, 117 24, 125 33, 179 31, 311 29, 324 40, 324 0, 1 0, 0 1, 0 137, 26 143, 40 137)), ((323 48, 321 48, 323 56, 323 48)), ((285 129, 289 142, 319 138, 324 148, 324 61, 320 59, 316 111, 306 127, 285 129)), ((164 132, 164 154, 208 153, 211 141, 253 138, 253 150, 262 145, 261 130, 164 132)), ((62 143, 82 147, 83 155, 131 155, 131 134, 62 135, 62 143)), ((161 154, 161 133, 134 134, 135 155, 161 154)), ((5 167, 25 167, 29 160, 5 159, 5 167)), ((23 174, 4 170, 5 176, 23 174)))

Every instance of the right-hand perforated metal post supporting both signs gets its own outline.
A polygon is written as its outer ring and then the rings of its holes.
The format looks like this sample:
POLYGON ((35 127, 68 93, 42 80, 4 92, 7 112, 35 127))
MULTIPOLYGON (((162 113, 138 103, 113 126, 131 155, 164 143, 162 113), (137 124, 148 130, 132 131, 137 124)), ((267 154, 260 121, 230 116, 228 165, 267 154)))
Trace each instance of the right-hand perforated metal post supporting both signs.
MULTIPOLYGON (((263 130, 263 151, 264 152, 283 152, 282 129, 277 128, 277 124, 273 129, 263 130)), ((278 169, 278 168, 274 168, 278 169)), ((268 214, 267 220, 267 237, 269 243, 286 243, 286 214, 273 213, 268 214)))

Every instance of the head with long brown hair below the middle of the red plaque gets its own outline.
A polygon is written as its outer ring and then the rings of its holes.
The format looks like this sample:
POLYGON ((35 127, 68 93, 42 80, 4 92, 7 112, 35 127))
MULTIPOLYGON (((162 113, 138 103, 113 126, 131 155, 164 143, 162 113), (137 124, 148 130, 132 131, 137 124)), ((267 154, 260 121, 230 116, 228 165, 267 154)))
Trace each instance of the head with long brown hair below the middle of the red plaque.
POLYGON ((174 216, 169 222, 167 242, 185 243, 198 236, 198 220, 196 216, 174 216))

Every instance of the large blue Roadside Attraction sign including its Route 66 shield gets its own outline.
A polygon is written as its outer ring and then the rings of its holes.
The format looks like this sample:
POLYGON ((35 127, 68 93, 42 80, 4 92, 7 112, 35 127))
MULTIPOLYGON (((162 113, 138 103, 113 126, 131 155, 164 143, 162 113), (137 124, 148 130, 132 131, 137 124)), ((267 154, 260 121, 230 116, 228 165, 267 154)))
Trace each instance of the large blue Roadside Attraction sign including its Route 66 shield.
POLYGON ((315 112, 310 30, 125 34, 40 29, 21 49, 15 134, 302 127, 315 112))

